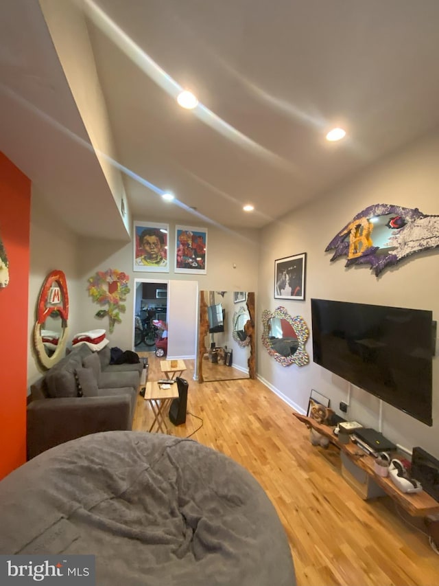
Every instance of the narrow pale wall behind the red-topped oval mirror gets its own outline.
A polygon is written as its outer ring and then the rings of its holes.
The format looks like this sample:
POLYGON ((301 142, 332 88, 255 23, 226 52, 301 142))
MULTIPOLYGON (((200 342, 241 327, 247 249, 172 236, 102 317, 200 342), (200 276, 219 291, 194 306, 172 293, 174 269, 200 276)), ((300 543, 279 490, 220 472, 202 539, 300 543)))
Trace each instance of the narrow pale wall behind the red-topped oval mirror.
POLYGON ((38 297, 47 275, 57 269, 66 275, 69 293, 70 333, 78 327, 82 304, 81 284, 78 281, 78 238, 60 224, 58 218, 45 207, 38 190, 35 188, 32 188, 29 247, 28 387, 40 378, 42 372, 45 372, 45 369, 40 367, 35 354, 33 331, 38 297))

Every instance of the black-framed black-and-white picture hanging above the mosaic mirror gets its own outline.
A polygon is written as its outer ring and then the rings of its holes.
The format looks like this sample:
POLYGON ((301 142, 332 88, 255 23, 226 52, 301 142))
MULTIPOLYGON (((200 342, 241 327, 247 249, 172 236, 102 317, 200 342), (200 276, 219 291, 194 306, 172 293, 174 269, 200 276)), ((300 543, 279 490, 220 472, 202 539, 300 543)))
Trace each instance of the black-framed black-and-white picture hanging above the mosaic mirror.
POLYGON ((305 300, 307 253, 274 261, 274 298, 305 300))

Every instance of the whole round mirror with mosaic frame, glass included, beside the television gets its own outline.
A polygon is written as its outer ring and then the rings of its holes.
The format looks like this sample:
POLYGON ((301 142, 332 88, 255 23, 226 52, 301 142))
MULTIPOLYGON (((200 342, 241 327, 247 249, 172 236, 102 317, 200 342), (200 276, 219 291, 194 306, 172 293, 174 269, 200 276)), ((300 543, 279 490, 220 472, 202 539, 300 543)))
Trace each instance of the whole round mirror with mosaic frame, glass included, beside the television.
POLYGON ((309 363, 305 350, 309 329, 300 315, 292 317, 285 307, 277 307, 274 311, 265 309, 262 325, 262 343, 278 363, 283 366, 305 366, 309 363))

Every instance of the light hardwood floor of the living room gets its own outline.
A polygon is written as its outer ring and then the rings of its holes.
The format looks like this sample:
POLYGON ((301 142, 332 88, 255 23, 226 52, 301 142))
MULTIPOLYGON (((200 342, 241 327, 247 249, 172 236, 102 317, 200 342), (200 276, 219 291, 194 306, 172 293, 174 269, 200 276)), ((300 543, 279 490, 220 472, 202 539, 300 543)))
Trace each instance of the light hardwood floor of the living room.
MULTIPOLYGON (((158 380, 159 359, 148 357, 149 380, 158 380)), ((190 414, 185 425, 169 422, 171 433, 193 433, 257 478, 285 528, 298 586, 439 585, 439 556, 420 532, 422 521, 402 518, 390 497, 363 501, 342 479, 337 449, 311 446, 291 407, 260 381, 198 384, 194 361, 185 363, 190 414)), ((139 396, 133 429, 150 421, 139 396)))

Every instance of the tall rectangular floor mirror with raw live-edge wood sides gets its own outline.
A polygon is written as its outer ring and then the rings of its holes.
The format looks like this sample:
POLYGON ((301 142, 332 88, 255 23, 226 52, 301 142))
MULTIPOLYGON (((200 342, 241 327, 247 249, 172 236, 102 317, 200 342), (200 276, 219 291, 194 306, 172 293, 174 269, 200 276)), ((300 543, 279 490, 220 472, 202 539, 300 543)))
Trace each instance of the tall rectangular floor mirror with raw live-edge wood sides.
POLYGON ((198 381, 254 379, 254 293, 200 291, 198 381))

